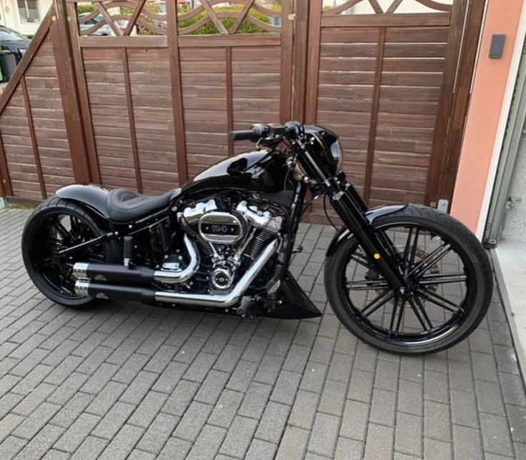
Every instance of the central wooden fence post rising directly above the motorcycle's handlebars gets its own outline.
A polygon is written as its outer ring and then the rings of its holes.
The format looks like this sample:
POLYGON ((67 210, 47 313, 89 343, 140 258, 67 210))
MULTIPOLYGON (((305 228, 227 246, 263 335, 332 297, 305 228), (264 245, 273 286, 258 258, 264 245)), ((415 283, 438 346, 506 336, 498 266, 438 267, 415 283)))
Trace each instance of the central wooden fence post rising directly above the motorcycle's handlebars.
POLYGON ((309 36, 309 2, 296 2, 294 21, 294 75, 292 77, 292 118, 304 121, 305 81, 307 79, 307 39, 309 36))

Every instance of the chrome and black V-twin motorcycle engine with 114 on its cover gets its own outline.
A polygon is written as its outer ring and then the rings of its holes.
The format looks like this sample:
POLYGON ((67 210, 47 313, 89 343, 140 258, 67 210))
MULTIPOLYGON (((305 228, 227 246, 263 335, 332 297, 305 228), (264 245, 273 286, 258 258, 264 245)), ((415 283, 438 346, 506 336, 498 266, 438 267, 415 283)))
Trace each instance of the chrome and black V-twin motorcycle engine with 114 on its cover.
POLYGON ((208 289, 225 291, 277 237, 285 216, 286 210, 275 204, 231 197, 199 201, 179 212, 178 219, 198 246, 208 289))

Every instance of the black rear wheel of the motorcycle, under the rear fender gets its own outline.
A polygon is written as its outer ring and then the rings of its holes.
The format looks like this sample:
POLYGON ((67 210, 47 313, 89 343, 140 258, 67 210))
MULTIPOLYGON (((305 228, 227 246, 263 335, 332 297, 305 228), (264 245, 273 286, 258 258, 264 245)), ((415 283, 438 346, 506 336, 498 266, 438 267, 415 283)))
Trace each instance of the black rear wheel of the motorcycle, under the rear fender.
POLYGON ((74 291, 71 277, 76 262, 104 262, 119 259, 113 241, 61 254, 104 234, 91 216, 78 204, 56 197, 44 201, 26 222, 22 234, 22 257, 35 286, 49 299, 74 308, 94 304, 91 297, 74 291))

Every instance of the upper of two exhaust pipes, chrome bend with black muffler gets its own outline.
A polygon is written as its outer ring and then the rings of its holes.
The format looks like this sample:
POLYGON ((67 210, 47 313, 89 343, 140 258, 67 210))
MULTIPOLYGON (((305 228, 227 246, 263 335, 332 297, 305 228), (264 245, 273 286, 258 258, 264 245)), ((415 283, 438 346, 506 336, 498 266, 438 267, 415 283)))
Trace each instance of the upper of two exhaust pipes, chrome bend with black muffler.
POLYGON ((188 266, 184 270, 154 270, 147 266, 128 268, 120 264, 86 264, 77 262, 73 266, 71 276, 75 279, 94 279, 124 284, 182 283, 192 278, 199 267, 199 254, 187 235, 184 235, 184 246, 190 257, 188 266))

